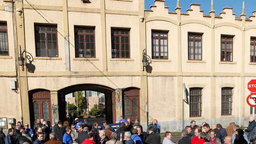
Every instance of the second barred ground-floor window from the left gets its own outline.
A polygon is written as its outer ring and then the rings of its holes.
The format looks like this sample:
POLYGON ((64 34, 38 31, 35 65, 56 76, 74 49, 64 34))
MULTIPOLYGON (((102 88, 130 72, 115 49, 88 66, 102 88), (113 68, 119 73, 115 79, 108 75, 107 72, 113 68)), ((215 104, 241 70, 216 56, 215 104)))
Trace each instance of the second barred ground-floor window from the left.
POLYGON ((221 115, 232 114, 232 89, 221 88, 221 115))

